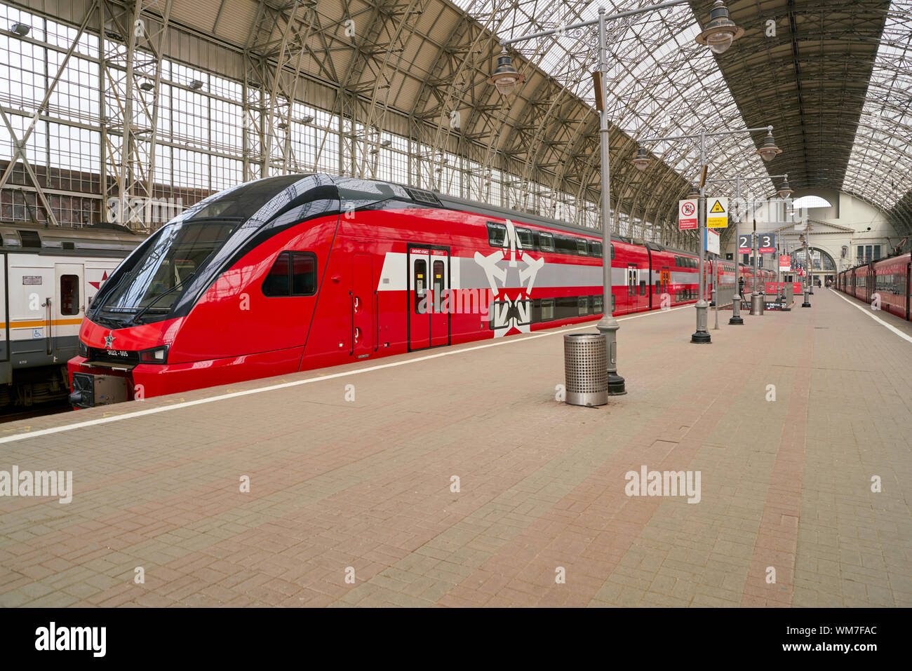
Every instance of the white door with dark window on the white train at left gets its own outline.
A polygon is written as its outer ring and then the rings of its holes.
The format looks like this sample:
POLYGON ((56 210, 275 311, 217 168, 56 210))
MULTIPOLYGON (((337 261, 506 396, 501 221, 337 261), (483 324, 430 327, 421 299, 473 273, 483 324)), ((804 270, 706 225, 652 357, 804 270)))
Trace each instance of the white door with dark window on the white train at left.
POLYGON ((66 360, 77 354, 79 325, 86 307, 84 275, 82 263, 54 264, 54 290, 49 292, 47 299, 50 305, 46 305, 45 336, 47 354, 56 356, 57 360, 66 360))

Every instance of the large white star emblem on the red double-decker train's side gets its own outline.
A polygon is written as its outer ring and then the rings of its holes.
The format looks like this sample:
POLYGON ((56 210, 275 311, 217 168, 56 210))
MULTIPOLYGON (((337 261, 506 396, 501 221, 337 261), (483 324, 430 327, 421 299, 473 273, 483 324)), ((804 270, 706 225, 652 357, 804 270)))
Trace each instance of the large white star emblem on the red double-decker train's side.
POLYGON ((482 266, 492 292, 488 309, 495 338, 530 332, 535 275, 544 266, 544 257, 535 259, 523 251, 513 222, 506 220, 506 226, 502 249, 487 256, 475 253, 475 263, 482 266))

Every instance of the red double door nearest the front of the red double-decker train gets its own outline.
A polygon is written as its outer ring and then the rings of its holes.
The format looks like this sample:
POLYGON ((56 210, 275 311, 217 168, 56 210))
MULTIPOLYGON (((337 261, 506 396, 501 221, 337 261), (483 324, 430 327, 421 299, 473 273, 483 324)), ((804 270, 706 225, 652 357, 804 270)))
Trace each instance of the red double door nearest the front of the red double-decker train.
POLYGON ((444 309, 450 288, 450 252, 409 246, 409 351, 447 345, 450 314, 444 309))

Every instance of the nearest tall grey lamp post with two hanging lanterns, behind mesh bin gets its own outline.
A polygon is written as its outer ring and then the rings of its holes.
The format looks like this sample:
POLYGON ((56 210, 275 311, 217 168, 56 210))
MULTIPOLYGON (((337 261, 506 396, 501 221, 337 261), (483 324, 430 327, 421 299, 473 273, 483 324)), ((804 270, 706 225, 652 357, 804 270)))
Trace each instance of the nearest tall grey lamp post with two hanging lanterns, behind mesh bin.
MULTIPOLYGON (((599 139, 601 144, 601 172, 602 172, 602 318, 599 320, 596 328, 605 335, 606 345, 608 348, 608 394, 618 396, 626 394, 624 378, 617 375, 617 319, 612 314, 612 281, 611 281, 611 172, 608 160, 608 114, 607 114, 607 95, 608 95, 608 29, 607 22, 624 18, 625 16, 634 16, 646 14, 665 7, 688 4, 689 0, 669 0, 669 2, 658 3, 658 5, 648 5, 631 9, 625 12, 615 14, 606 14, 605 7, 598 8, 598 18, 590 21, 571 24, 569 26, 558 26, 550 30, 543 30, 531 35, 503 39, 500 44, 502 47, 501 55, 497 57, 497 67, 494 69, 488 81, 493 84, 502 96, 509 96, 517 84, 525 81, 525 77, 513 67, 513 59, 507 53, 507 46, 518 42, 525 42, 539 37, 561 34, 564 35, 568 30, 585 28, 588 26, 598 26, 598 73, 596 90, 596 108, 599 112, 599 139)), ((703 32, 696 37, 696 41, 705 46, 715 54, 721 54, 731 46, 731 43, 744 34, 744 29, 735 26, 729 18, 729 10, 725 7, 722 0, 716 0, 710 11, 710 20, 703 29, 703 32)))

